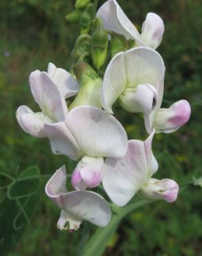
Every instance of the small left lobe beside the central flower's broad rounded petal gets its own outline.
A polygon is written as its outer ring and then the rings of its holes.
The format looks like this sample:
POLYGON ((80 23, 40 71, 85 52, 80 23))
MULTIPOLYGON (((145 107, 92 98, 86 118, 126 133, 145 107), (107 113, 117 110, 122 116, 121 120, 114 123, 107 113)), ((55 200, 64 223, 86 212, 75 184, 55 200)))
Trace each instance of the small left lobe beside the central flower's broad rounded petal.
POLYGON ((56 122, 52 125, 45 124, 44 131, 50 140, 53 154, 63 154, 73 160, 82 156, 80 147, 65 122, 56 122))

